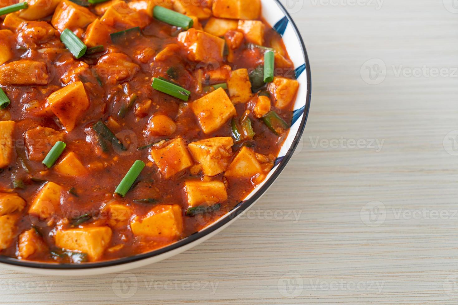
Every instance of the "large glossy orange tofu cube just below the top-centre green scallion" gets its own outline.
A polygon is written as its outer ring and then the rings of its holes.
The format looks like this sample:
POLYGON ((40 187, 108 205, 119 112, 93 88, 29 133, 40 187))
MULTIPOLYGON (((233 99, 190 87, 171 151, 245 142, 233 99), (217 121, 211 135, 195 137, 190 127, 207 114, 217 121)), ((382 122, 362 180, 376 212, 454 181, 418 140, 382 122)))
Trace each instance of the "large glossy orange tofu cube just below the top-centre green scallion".
POLYGON ((223 60, 223 38, 191 28, 178 34, 178 41, 188 49, 190 60, 205 63, 223 60))

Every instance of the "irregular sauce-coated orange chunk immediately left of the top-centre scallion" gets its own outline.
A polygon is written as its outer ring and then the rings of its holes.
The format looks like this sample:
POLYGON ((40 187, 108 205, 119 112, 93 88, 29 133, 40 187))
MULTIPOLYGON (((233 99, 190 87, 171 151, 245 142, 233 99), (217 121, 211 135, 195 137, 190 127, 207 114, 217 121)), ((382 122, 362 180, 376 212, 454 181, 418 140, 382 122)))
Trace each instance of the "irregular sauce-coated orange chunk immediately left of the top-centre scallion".
POLYGON ((109 27, 128 29, 132 27, 146 27, 151 17, 143 11, 132 10, 124 1, 115 2, 105 11, 100 21, 109 27))

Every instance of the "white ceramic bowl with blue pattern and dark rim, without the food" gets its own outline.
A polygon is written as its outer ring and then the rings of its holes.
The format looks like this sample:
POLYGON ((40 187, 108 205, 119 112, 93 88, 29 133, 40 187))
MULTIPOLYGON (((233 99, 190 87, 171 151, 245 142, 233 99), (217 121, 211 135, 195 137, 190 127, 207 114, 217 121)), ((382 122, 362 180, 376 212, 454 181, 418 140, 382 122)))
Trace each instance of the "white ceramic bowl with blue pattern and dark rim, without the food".
POLYGON ((205 229, 185 237, 169 246, 134 255, 123 257, 116 260, 105 262, 93 262, 84 264, 52 264, 22 261, 11 257, 0 256, 0 266, 3 268, 17 271, 38 273, 46 275, 93 275, 112 272, 122 272, 125 270, 142 267, 153 262, 158 262, 168 257, 172 257, 193 246, 206 241, 219 231, 230 225, 243 213, 253 206, 254 203, 267 191, 272 183, 277 179, 286 163, 291 158, 305 127, 307 115, 310 108, 311 99, 311 74, 307 52, 300 33, 294 24, 291 16, 278 0, 261 0, 262 16, 273 25, 273 28, 283 36, 283 41, 288 51, 290 59, 294 63, 294 72, 299 81, 299 91, 294 104, 293 123, 288 137, 282 146, 279 156, 275 161, 273 169, 269 172, 266 179, 258 185, 244 201, 240 202, 228 214, 218 219, 205 229))

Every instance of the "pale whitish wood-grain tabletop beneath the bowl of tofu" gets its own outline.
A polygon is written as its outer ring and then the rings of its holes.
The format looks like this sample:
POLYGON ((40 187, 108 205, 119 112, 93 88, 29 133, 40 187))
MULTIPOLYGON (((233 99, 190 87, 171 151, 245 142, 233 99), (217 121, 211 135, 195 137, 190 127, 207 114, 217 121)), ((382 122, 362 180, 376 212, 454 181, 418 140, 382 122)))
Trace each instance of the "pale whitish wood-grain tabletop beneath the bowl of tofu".
POLYGON ((298 153, 251 213, 131 273, 0 270, 0 302, 456 304, 458 9, 451 4, 296 1, 290 9, 311 59, 311 112, 298 153))

